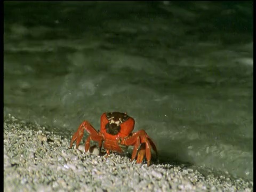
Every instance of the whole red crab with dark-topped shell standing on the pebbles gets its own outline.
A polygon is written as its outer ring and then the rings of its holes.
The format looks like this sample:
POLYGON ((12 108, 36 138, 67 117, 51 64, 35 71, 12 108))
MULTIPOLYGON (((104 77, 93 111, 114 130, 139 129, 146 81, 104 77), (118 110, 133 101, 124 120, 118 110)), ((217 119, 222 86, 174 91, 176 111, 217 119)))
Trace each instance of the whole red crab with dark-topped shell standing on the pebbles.
POLYGON ((70 141, 70 148, 76 140, 76 148, 82 140, 84 130, 89 133, 89 137, 85 141, 85 151, 90 148, 90 141, 98 141, 99 148, 102 146, 106 150, 107 155, 110 151, 118 153, 123 152, 123 148, 134 146, 131 161, 137 156, 137 163, 141 163, 146 155, 147 165, 151 161, 151 148, 157 154, 155 143, 149 138, 144 130, 132 133, 134 129, 134 119, 126 113, 111 112, 103 113, 100 118, 100 131, 96 131, 93 126, 84 121, 77 129, 70 141))

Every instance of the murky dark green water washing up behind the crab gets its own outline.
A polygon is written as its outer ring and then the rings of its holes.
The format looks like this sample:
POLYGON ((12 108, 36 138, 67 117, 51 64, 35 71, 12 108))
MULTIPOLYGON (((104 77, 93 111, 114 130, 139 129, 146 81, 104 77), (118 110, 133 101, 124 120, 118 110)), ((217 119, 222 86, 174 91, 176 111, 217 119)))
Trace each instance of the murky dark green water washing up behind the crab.
POLYGON ((252 179, 252 3, 4 2, 4 114, 70 137, 105 111, 162 161, 252 179))

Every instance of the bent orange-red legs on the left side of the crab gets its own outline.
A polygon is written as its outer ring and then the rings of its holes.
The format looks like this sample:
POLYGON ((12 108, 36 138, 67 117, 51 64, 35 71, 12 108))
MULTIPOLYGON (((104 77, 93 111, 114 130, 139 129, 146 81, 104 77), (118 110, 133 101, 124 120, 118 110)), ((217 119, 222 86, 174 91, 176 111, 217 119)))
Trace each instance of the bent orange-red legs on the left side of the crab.
POLYGON ((93 128, 93 126, 88 122, 84 121, 79 125, 77 131, 73 135, 69 148, 72 147, 74 141, 76 141, 76 148, 78 148, 79 143, 81 142, 83 136, 84 136, 84 130, 89 133, 89 137, 86 139, 85 142, 85 151, 87 152, 90 148, 90 140, 98 141, 99 147, 101 148, 103 137, 93 128))

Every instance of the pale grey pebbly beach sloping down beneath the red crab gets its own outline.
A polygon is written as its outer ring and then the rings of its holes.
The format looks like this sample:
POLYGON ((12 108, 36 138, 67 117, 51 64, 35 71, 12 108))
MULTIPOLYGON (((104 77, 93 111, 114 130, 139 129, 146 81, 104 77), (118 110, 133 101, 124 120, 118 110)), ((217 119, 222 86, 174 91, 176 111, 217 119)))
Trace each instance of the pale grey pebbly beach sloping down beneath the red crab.
POLYGON ((253 181, 68 149, 44 126, 4 117, 4 191, 253 191, 253 181))

